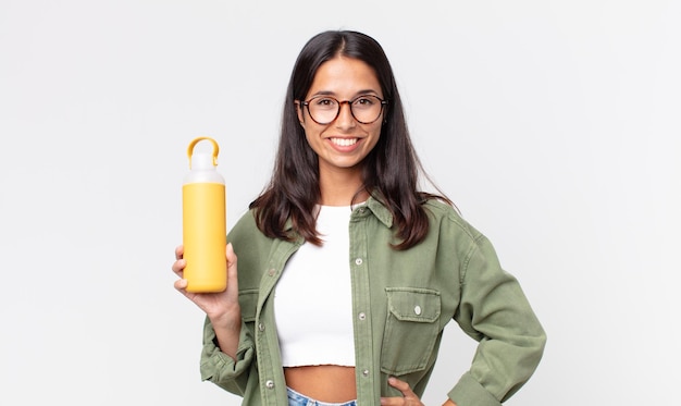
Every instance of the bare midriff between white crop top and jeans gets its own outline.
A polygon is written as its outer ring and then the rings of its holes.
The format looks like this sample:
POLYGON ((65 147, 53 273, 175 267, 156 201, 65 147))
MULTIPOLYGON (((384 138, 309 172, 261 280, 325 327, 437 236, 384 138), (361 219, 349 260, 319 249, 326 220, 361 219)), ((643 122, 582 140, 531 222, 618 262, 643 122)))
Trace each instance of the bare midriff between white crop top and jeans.
POLYGON ((355 367, 315 365, 284 368, 286 385, 320 402, 344 403, 357 398, 355 367))

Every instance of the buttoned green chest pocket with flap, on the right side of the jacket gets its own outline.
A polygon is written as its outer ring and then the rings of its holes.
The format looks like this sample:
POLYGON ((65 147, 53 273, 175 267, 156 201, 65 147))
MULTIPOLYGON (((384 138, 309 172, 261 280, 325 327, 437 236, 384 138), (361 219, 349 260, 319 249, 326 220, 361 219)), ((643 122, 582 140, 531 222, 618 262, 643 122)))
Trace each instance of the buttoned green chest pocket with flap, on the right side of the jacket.
POLYGON ((381 370, 400 376, 424 369, 439 334, 439 292, 386 287, 387 318, 381 370))

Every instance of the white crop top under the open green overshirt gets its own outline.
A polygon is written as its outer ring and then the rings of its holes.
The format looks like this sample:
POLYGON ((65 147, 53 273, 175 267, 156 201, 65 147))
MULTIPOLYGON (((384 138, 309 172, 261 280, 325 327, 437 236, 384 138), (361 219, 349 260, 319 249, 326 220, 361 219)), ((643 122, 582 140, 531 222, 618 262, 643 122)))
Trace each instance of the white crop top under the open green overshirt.
POLYGON ((349 206, 321 206, 323 246, 305 243, 288 260, 274 293, 284 367, 355 366, 349 206))

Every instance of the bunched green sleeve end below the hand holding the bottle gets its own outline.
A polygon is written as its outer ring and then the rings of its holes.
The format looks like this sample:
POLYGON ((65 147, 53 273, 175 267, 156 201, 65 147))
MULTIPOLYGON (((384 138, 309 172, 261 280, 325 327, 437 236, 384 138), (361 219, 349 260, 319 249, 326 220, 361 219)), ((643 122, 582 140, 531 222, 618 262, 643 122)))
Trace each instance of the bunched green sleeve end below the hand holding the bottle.
POLYGON ((215 331, 209 319, 203 325, 203 348, 201 350, 201 380, 243 396, 255 360, 252 333, 242 321, 242 332, 236 359, 224 354, 216 345, 215 331))

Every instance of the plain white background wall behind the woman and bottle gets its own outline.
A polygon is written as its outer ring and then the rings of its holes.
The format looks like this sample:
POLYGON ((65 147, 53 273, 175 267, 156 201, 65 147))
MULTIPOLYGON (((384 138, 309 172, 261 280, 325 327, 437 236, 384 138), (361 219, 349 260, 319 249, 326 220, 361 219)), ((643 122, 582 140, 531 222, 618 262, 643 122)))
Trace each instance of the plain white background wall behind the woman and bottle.
MULTIPOLYGON (((678 402, 680 22, 661 0, 0 0, 2 403, 239 404, 200 382, 202 315, 172 287, 186 147, 220 143, 233 224, 298 51, 336 28, 384 46, 426 170, 546 328, 507 404, 678 402)), ((426 405, 472 357, 445 341, 426 405)))

